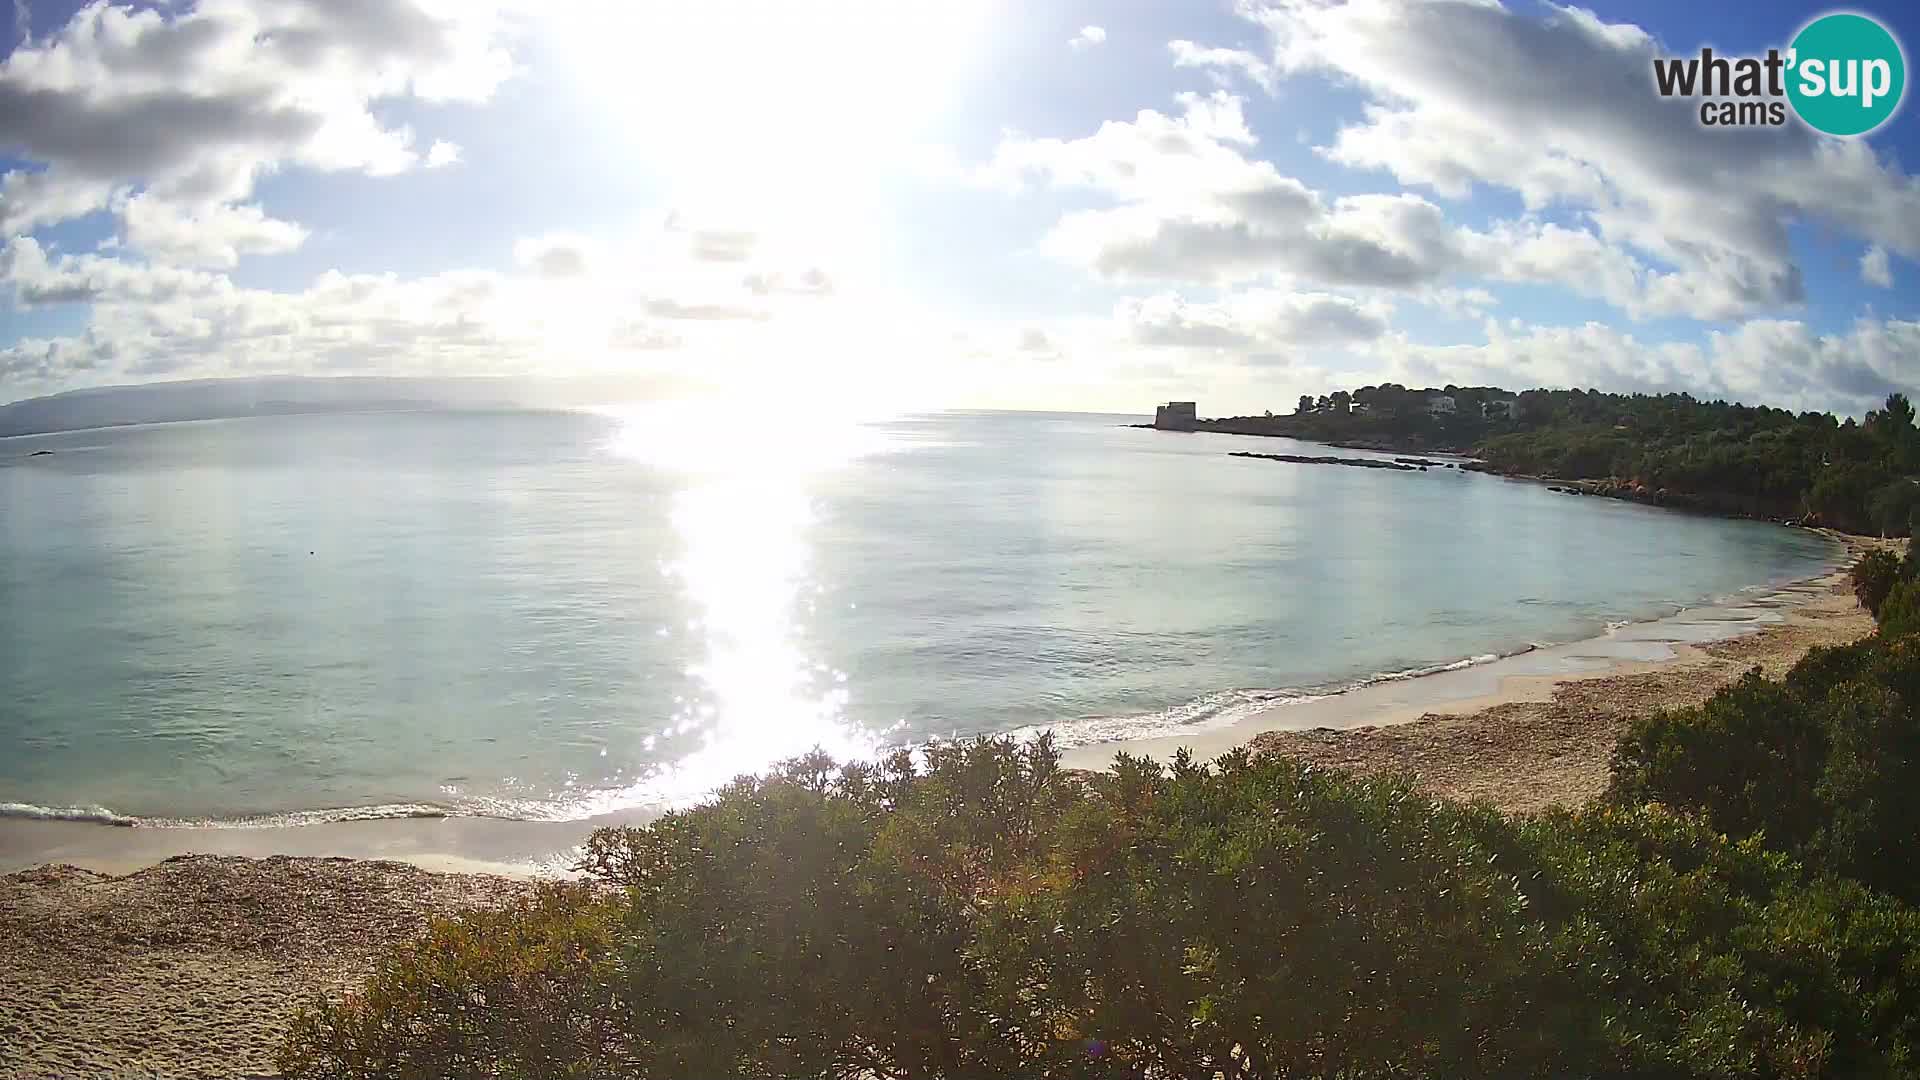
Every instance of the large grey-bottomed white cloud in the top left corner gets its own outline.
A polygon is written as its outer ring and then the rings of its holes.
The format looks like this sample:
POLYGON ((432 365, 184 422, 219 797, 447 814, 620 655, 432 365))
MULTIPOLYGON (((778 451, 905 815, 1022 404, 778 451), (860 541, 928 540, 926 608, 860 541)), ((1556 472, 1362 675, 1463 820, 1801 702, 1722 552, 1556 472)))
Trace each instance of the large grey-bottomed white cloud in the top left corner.
POLYGON ((413 131, 376 106, 486 100, 513 71, 505 33, 484 0, 94 0, 0 61, 0 150, 33 163, 0 181, 0 225, 54 225, 138 190, 146 202, 119 202, 142 211, 127 242, 154 238, 154 258, 284 250, 292 227, 242 206, 261 175, 415 167, 413 131), (182 242, 204 227, 221 236, 182 242))

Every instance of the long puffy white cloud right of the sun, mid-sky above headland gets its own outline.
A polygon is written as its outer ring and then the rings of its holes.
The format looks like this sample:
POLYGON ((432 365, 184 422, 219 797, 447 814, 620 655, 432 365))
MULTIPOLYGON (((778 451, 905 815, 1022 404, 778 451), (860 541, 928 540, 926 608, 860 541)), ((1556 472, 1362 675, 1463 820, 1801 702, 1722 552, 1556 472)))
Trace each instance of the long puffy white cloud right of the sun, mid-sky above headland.
POLYGON ((1561 286, 1636 319, 1738 319, 1803 292, 1791 259, 1747 258, 1705 238, 1624 236, 1626 227, 1597 213, 1590 227, 1528 213, 1471 229, 1415 192, 1327 198, 1258 156, 1242 98, 1215 90, 1177 102, 1179 115, 1142 110, 1083 138, 1010 136, 977 177, 1037 177, 1106 196, 1112 206, 1066 213, 1041 246, 1112 281, 1281 277, 1432 292, 1486 279, 1561 286))

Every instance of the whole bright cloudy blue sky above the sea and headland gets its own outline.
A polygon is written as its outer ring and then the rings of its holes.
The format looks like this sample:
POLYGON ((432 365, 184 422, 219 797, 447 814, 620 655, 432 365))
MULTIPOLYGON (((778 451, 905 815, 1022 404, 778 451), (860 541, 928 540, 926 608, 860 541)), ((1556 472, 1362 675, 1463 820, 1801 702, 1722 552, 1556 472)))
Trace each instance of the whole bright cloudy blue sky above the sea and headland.
MULTIPOLYGON (((1920 110, 1711 129, 1651 77, 1828 10, 13 0, 0 402, 593 375, 1229 415, 1394 380, 1859 415, 1920 390, 1920 110)), ((1907 0, 1847 10, 1920 42, 1907 0)))

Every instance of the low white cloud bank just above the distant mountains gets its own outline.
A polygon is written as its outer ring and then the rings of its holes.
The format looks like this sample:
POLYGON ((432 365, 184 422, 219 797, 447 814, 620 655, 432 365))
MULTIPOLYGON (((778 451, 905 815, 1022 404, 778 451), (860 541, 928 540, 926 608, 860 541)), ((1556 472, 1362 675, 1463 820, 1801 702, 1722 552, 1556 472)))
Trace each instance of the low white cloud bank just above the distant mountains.
MULTIPOLYGON (((142 221, 140 211, 131 219, 142 221)), ((209 229, 209 252, 215 234, 232 240, 234 231, 209 229)), ((349 371, 643 369, 764 386, 787 375, 755 375, 756 357, 791 367, 781 361, 801 350, 824 357, 808 369, 828 380, 829 367, 899 356, 862 352, 866 334, 891 332, 889 313, 854 300, 849 315, 824 265, 708 261, 685 240, 676 229, 545 233, 513 244, 511 273, 326 271, 275 292, 131 252, 60 254, 15 236, 0 246, 0 304, 86 304, 88 323, 71 336, 0 346, 0 400, 115 380, 349 371), (847 359, 847 350, 858 356, 847 359)))

